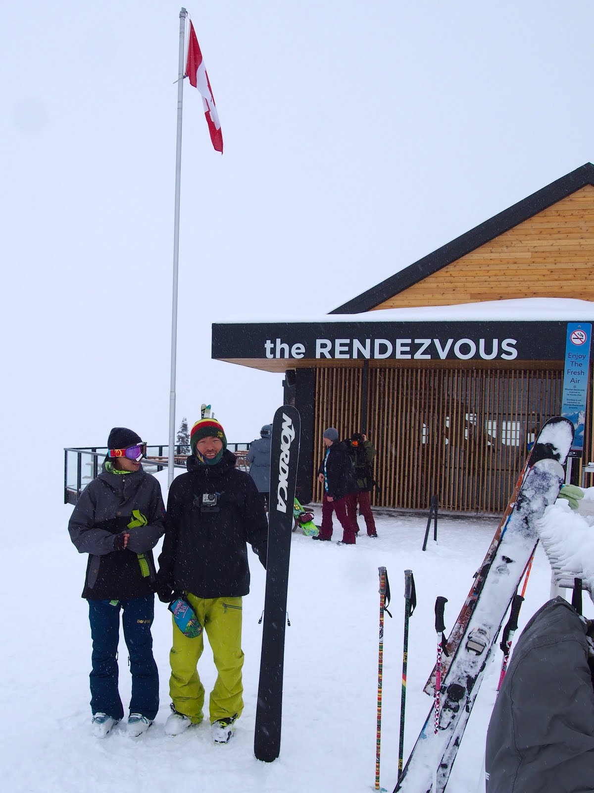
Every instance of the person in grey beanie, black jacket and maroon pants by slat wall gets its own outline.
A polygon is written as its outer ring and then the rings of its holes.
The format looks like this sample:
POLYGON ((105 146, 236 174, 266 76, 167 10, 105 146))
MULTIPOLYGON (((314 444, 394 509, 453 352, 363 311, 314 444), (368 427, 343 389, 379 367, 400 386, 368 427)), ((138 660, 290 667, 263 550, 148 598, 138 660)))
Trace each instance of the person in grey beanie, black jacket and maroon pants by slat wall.
POLYGON ((338 431, 328 427, 324 431, 325 454, 318 468, 318 480, 324 485, 322 499, 322 527, 314 540, 330 540, 332 538, 332 513, 342 526, 342 545, 354 545, 356 542, 356 523, 348 516, 346 501, 349 493, 356 492, 356 481, 348 448, 339 442, 338 431))

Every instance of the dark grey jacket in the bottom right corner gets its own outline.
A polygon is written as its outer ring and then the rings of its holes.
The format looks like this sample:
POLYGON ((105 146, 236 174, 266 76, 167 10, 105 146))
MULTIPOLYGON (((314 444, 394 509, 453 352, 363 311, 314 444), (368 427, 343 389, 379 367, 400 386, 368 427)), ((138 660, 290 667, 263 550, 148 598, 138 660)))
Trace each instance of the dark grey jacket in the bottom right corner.
POLYGON ((487 733, 487 793, 592 793, 594 688, 584 622, 561 597, 524 628, 487 733))

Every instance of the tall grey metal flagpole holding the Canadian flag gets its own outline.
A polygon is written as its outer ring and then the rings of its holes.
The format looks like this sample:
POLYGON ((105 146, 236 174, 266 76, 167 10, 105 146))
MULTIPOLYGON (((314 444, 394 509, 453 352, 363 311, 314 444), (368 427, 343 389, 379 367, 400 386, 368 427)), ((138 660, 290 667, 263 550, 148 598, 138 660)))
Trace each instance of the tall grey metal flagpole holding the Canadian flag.
POLYGON ((167 485, 173 482, 173 453, 175 451, 175 364, 177 357, 177 270, 180 255, 180 186, 181 186, 181 111, 184 104, 185 19, 188 12, 180 11, 180 57, 177 75, 177 147, 175 152, 175 214, 173 220, 173 299, 171 307, 171 383, 169 390, 169 446, 167 485))

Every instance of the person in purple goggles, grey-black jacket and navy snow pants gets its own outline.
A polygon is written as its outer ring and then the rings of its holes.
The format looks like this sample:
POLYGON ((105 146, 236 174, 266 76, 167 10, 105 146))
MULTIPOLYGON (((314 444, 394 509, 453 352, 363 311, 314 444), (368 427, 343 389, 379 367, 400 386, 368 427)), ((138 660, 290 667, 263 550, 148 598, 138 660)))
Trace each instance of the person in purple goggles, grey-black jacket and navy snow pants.
POLYGON ((68 531, 78 552, 89 554, 82 597, 89 602, 93 639, 93 734, 105 737, 124 718, 117 688, 121 609, 132 675, 127 730, 137 737, 153 723, 159 703, 150 634, 156 581, 151 549, 165 531, 165 508, 158 481, 140 465, 147 445, 139 435, 114 427, 108 447, 101 473, 74 507, 68 531))

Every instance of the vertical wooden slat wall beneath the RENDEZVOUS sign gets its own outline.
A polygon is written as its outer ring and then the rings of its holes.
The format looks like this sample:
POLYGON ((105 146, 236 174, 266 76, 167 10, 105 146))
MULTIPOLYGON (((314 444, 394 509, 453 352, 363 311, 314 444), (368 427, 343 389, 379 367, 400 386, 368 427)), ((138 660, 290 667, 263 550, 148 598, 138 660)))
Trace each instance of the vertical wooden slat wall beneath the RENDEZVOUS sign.
MULTIPOLYGON (((336 427, 341 438, 360 429, 361 385, 360 368, 316 370, 315 459, 322 459, 326 427, 336 427)), ((378 453, 379 485, 372 503, 426 510, 437 495, 442 510, 503 511, 527 444, 558 414, 561 399, 561 369, 370 367, 367 434, 378 453)), ((592 426, 592 400, 588 415, 592 426)), ((588 462, 594 459, 589 430, 584 443, 588 462)))

